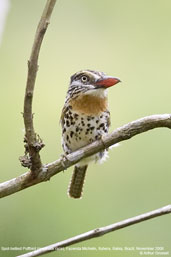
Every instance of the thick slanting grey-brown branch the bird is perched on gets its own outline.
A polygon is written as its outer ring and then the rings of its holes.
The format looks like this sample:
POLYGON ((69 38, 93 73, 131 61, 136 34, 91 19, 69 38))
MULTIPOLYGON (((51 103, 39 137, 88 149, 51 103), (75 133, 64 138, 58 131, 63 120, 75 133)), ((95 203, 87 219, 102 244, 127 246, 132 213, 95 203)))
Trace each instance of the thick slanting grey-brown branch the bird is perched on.
POLYGON ((0 184, 0 197, 5 197, 40 182, 47 181, 52 176, 69 168, 85 157, 104 150, 113 144, 128 140, 138 134, 159 127, 171 129, 171 114, 151 115, 130 122, 114 130, 111 134, 106 135, 103 137, 103 140, 95 141, 90 145, 80 148, 67 155, 66 158, 60 158, 52 163, 43 165, 37 177, 33 176, 31 172, 26 172, 17 178, 3 182, 0 184))

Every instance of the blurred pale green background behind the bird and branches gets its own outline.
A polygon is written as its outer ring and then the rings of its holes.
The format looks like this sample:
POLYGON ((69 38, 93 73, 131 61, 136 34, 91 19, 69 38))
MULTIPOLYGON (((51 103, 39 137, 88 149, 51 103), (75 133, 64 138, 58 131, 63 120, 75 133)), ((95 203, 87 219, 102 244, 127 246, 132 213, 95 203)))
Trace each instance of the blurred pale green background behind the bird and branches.
MULTIPOLYGON (((0 180, 26 171, 21 112, 35 29, 45 0, 12 0, 0 48, 0 180)), ((33 109, 46 147, 44 163, 62 153, 60 112, 70 76, 94 69, 117 76, 109 92, 111 130, 171 111, 170 0, 58 0, 42 45, 33 109)), ((0 246, 42 247, 169 204, 171 132, 155 129, 121 143, 88 170, 81 200, 66 192, 72 168, 1 199, 0 246)), ((171 256, 166 215, 73 247, 164 247, 171 256)), ((0 251, 15 256, 24 251, 0 251)), ((139 256, 133 251, 61 251, 46 256, 139 256)))

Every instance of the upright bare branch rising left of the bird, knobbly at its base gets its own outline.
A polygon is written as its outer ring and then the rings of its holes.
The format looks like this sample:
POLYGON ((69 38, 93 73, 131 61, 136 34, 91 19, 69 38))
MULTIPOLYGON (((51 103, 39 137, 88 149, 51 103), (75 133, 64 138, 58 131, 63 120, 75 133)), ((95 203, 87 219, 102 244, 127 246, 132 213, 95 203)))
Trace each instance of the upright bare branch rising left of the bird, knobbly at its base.
MULTIPOLYGON (((26 148, 29 152, 29 159, 25 162, 24 165, 29 164, 31 166, 31 171, 35 174, 41 170, 42 163, 39 155, 39 151, 44 146, 44 144, 39 140, 33 125, 33 114, 32 114, 32 101, 33 101, 33 93, 34 86, 36 81, 36 74, 38 70, 38 57, 40 52, 40 47, 42 44, 43 37, 47 30, 49 20, 54 8, 56 0, 47 0, 46 6, 44 8, 42 17, 37 27, 30 60, 28 61, 28 76, 27 76, 27 85, 24 99, 24 124, 25 124, 25 142, 26 148)), ((23 158, 20 158, 23 161, 23 158)))

